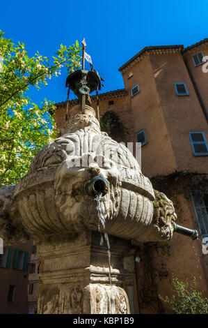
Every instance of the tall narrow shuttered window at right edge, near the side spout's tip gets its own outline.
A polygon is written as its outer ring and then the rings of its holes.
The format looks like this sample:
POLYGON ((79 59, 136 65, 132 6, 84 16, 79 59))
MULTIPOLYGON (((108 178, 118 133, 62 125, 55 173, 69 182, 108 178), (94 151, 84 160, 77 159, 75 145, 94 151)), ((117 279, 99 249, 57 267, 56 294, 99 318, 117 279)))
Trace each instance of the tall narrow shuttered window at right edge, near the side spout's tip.
POLYGON ((191 197, 202 238, 208 237, 208 191, 191 191, 191 197))

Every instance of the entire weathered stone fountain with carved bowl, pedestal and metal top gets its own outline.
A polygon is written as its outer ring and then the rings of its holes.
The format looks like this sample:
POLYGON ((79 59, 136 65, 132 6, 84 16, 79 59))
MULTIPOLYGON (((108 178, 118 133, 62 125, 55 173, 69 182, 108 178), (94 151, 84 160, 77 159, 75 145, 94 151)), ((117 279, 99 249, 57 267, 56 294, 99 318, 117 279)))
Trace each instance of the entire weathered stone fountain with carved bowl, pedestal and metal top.
POLYGON ((137 313, 132 245, 167 241, 175 230, 173 203, 123 144, 100 131, 86 101, 99 82, 96 71, 67 78, 80 103, 63 135, 42 148, 17 186, 0 188, 4 244, 38 246, 38 313, 137 313))

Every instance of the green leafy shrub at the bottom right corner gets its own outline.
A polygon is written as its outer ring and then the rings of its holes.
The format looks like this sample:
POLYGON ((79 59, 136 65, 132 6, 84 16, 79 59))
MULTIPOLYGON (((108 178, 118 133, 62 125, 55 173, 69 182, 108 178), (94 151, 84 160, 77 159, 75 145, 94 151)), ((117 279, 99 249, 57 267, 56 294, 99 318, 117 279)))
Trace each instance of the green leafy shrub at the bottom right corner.
POLYGON ((173 313, 177 314, 207 314, 208 313, 208 298, 202 297, 202 292, 195 290, 196 281, 189 283, 186 279, 185 282, 179 281, 173 276, 173 291, 175 295, 172 298, 160 296, 163 301, 170 304, 173 313))

